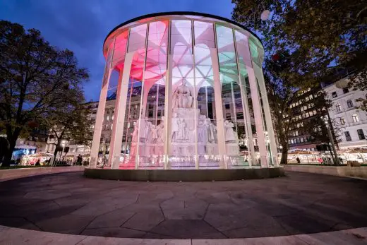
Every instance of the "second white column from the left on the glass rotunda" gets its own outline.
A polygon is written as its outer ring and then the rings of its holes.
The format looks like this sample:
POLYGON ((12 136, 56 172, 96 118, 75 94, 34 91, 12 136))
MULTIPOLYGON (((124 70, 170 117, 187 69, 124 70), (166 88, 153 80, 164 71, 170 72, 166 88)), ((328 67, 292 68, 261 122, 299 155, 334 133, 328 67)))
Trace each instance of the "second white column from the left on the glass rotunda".
POLYGON ((119 77, 114 112, 114 126, 112 126, 112 140, 109 147, 109 161, 111 163, 111 168, 113 169, 119 168, 122 136, 124 135, 128 80, 130 78, 130 69, 134 53, 135 52, 126 53, 124 71, 122 71, 122 76, 119 77))

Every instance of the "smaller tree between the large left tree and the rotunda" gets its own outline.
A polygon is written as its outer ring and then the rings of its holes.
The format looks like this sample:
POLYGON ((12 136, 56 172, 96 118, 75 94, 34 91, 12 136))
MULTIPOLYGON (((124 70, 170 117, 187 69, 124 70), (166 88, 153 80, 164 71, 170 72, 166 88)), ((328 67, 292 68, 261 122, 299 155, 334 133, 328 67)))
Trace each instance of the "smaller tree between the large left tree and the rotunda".
MULTIPOLYGON (((83 92, 79 92, 83 98, 83 92)), ((42 124, 50 129, 50 137, 54 138, 52 144, 56 145, 54 160, 62 141, 66 140, 80 145, 90 145, 92 141, 92 119, 90 110, 83 104, 71 104, 68 107, 48 113, 42 117, 42 124)), ((62 153, 61 153, 62 154, 62 153)))

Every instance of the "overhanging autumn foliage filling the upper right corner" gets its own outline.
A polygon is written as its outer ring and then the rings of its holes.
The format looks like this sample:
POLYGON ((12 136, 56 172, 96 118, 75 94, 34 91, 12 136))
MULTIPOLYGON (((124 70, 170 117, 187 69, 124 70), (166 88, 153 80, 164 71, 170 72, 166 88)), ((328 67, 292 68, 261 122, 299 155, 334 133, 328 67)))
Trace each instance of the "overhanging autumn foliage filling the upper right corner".
MULTIPOLYGON (((267 54, 297 52, 302 64, 294 71, 301 68, 322 78, 331 62, 342 66, 353 64, 359 71, 366 69, 367 6, 363 0, 232 0, 232 3, 235 4, 232 18, 260 32, 267 54), (261 20, 265 10, 270 11, 270 18, 261 20)), ((366 89, 366 73, 363 75, 363 83, 361 80, 353 83, 356 88, 366 89)), ((295 80, 293 85, 300 86, 303 81, 295 80)))

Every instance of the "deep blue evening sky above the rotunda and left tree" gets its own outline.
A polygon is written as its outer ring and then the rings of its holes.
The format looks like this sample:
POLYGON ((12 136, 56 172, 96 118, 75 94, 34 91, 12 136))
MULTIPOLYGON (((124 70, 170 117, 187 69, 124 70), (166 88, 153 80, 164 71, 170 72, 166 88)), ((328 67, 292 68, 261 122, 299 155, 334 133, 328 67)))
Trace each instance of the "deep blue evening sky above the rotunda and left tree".
POLYGON ((231 0, 0 0, 0 19, 36 28, 50 44, 71 49, 90 71, 85 98, 98 100, 102 44, 116 25, 148 13, 195 11, 231 18, 231 0))

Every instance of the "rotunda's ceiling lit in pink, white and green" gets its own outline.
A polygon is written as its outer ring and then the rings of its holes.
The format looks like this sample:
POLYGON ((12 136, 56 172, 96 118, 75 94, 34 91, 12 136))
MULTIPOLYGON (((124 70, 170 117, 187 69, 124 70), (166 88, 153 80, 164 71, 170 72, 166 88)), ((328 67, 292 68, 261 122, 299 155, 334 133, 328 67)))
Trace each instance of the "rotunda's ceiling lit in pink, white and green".
MULTIPOLYGON (((122 71, 126 51, 134 52, 130 77, 134 80, 164 84, 167 71, 168 26, 171 20, 170 54, 172 54, 173 87, 179 85, 183 79, 193 88, 212 85, 210 48, 215 47, 214 23, 222 24, 223 21, 200 16, 184 17, 192 19, 194 17, 194 21, 176 19, 173 16, 144 18, 112 32, 107 39, 107 42, 109 40, 111 43, 110 47, 114 47, 112 68, 122 71), (210 20, 210 22, 200 20, 210 20), (194 37, 192 37, 193 34, 194 37), (112 36, 115 37, 114 46, 111 42, 112 36), (195 45, 192 44, 193 40, 195 40, 195 45), (127 43, 128 49, 126 50, 127 43)), ((221 80, 226 82, 238 78, 238 71, 232 28, 221 24, 216 27, 217 50, 221 80)), ((241 42, 247 42, 247 40, 241 40, 241 42)))

